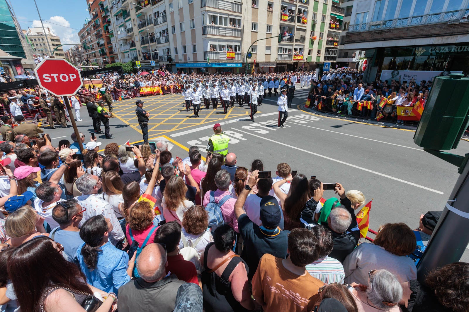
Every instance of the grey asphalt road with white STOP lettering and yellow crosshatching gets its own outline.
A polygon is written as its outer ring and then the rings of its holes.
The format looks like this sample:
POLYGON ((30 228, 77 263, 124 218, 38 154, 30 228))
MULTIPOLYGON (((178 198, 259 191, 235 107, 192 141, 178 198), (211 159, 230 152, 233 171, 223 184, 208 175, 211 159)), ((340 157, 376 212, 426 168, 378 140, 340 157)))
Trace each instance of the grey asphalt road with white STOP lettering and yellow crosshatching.
MULTIPOLYGON (((295 104, 304 103, 306 89, 298 90, 295 104)), ((150 112, 150 141, 164 138, 171 143, 171 152, 186 157, 189 146, 201 150, 213 134, 214 123, 230 137, 229 151, 237 155, 237 165, 250 168, 252 160, 260 159, 265 170, 275 174, 280 162, 306 176, 315 175, 324 183, 340 182, 346 190, 358 189, 366 201, 373 199, 370 228, 388 222, 405 222, 411 228, 419 224, 421 214, 443 207, 458 177, 457 168, 424 152, 413 142, 414 130, 407 127, 368 123, 314 114, 301 109, 288 111, 286 128, 277 128, 277 97, 267 97, 255 122, 249 118, 249 108, 233 108, 228 116, 222 109, 202 109, 200 118, 182 111, 180 95, 154 96, 142 99, 150 112), (221 114, 220 114, 221 113, 221 114), (173 119, 174 118, 174 119, 173 119)), ((115 139, 99 140, 123 144, 127 140, 142 140, 136 116, 135 100, 115 102, 118 118, 111 119, 115 139)), ((92 131, 86 108, 81 109, 83 122, 77 122, 83 133, 92 131)), ((50 133, 53 143, 64 136, 69 139, 72 129, 55 129, 50 133)), ((104 129, 103 129, 104 130, 104 129)), ((88 140, 87 140, 88 141, 88 140)), ((86 141, 86 142, 87 142, 86 141)), ((464 155, 469 142, 462 141, 452 152, 464 155)), ((324 197, 335 196, 325 191, 324 197)), ((463 260, 469 260, 466 250, 463 260)))

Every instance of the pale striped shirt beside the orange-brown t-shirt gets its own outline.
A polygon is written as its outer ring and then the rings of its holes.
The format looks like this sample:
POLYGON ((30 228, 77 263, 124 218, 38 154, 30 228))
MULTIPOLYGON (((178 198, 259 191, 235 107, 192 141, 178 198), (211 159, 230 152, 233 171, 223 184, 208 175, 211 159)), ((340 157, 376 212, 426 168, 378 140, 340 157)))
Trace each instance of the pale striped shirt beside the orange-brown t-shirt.
POLYGON ((306 270, 311 276, 326 284, 344 283, 344 267, 339 260, 326 256, 306 265, 306 270))

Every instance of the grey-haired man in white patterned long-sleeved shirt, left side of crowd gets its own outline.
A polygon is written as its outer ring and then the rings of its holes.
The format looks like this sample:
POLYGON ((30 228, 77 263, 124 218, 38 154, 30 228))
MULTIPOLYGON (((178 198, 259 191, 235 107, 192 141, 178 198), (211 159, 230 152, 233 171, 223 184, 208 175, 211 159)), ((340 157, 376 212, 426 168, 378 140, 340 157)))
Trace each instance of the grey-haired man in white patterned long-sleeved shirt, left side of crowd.
POLYGON ((117 219, 113 207, 103 199, 102 194, 98 194, 99 189, 102 188, 101 179, 93 174, 83 174, 75 181, 76 188, 82 192, 81 196, 76 196, 75 199, 80 203, 83 209, 83 219, 80 222, 80 227, 91 217, 103 215, 108 218, 113 225, 109 239, 114 246, 117 246, 124 239, 124 232, 122 232, 121 224, 117 219))

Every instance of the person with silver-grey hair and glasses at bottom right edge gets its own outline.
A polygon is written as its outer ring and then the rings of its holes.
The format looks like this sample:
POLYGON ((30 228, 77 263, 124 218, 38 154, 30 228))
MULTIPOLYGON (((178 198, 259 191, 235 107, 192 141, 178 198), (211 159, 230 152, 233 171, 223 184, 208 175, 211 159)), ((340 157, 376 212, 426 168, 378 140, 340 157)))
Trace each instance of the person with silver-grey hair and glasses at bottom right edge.
POLYGON ((387 270, 372 270, 369 275, 368 285, 351 283, 349 287, 358 311, 401 311, 403 291, 397 276, 387 270))

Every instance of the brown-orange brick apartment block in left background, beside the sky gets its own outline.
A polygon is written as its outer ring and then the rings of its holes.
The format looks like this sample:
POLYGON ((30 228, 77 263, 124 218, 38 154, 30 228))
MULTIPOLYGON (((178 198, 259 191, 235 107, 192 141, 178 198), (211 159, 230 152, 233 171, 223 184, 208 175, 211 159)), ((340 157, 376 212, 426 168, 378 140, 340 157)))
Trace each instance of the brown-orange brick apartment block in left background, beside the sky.
POLYGON ((90 19, 83 24, 78 32, 80 41, 86 45, 84 52, 85 63, 97 63, 99 66, 114 63, 116 55, 113 50, 110 31, 111 13, 106 1, 88 1, 88 12, 90 19))

